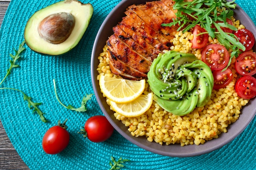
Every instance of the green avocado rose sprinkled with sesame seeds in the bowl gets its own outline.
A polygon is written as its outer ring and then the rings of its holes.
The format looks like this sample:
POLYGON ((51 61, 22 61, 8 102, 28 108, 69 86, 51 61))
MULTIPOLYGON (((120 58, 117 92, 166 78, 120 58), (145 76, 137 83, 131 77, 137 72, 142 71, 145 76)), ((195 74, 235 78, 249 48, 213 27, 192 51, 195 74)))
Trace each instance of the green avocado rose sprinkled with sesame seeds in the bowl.
POLYGON ((154 100, 166 111, 183 116, 211 98, 211 69, 193 54, 168 51, 150 66, 148 84, 154 100))

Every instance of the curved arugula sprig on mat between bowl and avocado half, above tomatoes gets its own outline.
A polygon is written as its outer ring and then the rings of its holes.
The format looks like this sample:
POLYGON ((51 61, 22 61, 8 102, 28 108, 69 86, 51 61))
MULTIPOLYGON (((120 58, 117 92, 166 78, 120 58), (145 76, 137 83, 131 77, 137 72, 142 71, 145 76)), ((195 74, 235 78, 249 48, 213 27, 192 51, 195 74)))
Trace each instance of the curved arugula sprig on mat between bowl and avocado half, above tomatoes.
POLYGON ((54 85, 55 96, 56 96, 58 102, 59 102, 61 105, 63 105, 63 107, 65 107, 66 109, 69 109, 69 110, 74 110, 74 111, 76 111, 76 112, 85 112, 85 111, 87 110, 87 108, 86 108, 86 106, 85 106, 85 105, 86 105, 86 102, 92 98, 92 95, 93 95, 93 94, 86 94, 86 97, 85 97, 85 96, 83 97, 82 102, 81 102, 81 107, 79 107, 79 108, 75 108, 75 107, 73 107, 72 105, 66 106, 66 105, 64 105, 64 104, 60 101, 60 99, 58 98, 57 90, 56 90, 55 79, 53 79, 53 85, 54 85))

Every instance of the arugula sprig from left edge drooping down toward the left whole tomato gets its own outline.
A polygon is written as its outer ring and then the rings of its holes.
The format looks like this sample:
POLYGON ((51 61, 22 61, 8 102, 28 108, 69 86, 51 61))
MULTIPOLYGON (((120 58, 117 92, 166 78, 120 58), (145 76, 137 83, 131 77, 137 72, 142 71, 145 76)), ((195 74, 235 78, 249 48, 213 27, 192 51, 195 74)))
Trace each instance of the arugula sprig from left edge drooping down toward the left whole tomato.
POLYGON ((41 105, 42 103, 34 103, 33 101, 31 101, 31 97, 27 96, 24 92, 22 92, 19 89, 8 88, 8 87, 2 87, 0 89, 11 89, 11 90, 16 90, 18 92, 21 92, 23 94, 24 101, 28 102, 29 109, 33 109, 33 113, 37 112, 37 114, 39 114, 40 116, 41 121, 47 122, 47 120, 45 119, 44 113, 41 112, 41 110, 38 108, 38 106, 41 105))

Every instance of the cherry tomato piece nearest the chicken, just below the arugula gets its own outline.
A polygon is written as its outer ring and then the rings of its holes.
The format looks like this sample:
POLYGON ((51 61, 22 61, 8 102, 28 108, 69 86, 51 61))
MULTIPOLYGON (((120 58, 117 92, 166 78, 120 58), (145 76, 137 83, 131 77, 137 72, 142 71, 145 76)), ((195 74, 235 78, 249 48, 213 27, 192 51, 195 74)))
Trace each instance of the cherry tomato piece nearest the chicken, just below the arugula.
POLYGON ((207 45, 208 34, 201 34, 198 36, 198 34, 202 32, 206 32, 205 29, 200 27, 200 25, 195 25, 195 27, 193 28, 193 39, 191 40, 192 48, 198 49, 203 48, 207 45))

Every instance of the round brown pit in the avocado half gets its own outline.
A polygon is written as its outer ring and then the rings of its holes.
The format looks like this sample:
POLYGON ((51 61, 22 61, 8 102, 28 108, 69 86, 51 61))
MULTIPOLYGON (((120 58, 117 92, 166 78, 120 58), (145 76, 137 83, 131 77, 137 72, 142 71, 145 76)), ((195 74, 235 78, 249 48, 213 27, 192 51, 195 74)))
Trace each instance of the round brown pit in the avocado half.
POLYGON ((38 33, 47 42, 60 44, 70 36, 74 25, 75 18, 71 13, 54 13, 39 23, 38 33))

